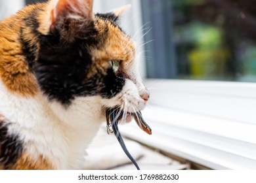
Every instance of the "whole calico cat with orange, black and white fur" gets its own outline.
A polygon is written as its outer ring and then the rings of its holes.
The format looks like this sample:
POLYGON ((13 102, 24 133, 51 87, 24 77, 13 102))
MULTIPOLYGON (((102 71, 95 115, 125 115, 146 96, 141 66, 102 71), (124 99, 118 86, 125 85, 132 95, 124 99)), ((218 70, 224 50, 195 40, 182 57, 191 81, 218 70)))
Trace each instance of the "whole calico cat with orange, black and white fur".
POLYGON ((146 106, 126 9, 51 0, 0 22, 0 169, 81 169, 106 108, 146 106))

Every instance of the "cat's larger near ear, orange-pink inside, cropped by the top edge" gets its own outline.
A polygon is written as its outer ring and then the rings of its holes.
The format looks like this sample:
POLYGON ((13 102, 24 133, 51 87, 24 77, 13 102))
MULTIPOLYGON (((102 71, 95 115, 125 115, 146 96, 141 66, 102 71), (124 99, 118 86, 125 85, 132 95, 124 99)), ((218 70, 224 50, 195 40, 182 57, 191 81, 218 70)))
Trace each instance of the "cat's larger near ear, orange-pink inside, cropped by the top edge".
POLYGON ((93 0, 52 0, 48 20, 50 32, 66 39, 80 37, 93 28, 93 0))

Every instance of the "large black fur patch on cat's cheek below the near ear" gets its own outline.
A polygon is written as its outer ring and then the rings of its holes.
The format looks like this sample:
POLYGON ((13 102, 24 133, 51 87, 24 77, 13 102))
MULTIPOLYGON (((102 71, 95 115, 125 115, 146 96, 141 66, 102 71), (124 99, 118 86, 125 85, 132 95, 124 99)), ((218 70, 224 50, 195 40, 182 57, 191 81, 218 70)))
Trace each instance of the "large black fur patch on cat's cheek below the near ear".
POLYGON ((59 44, 58 37, 41 39, 39 59, 35 63, 35 75, 41 90, 63 104, 69 104, 82 92, 82 83, 91 65, 91 56, 81 42, 59 44))

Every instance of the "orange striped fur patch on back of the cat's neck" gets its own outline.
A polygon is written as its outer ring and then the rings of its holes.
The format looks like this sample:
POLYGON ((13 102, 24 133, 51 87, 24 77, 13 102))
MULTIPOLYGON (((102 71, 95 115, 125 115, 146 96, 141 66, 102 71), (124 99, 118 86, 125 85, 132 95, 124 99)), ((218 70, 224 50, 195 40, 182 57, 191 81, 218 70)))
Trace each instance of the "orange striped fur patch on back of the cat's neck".
POLYGON ((19 42, 22 17, 25 15, 26 11, 22 10, 0 22, 0 78, 10 92, 33 96, 38 91, 37 82, 26 63, 19 42))

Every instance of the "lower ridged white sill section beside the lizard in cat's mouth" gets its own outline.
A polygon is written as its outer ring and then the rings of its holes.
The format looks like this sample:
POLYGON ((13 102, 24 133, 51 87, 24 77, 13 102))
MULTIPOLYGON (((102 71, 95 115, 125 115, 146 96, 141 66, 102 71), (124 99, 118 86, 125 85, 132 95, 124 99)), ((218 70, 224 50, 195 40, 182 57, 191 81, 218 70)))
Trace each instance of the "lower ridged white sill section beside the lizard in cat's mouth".
POLYGON ((160 107, 143 114, 151 136, 135 122, 120 126, 121 134, 212 169, 256 169, 255 125, 160 107))

